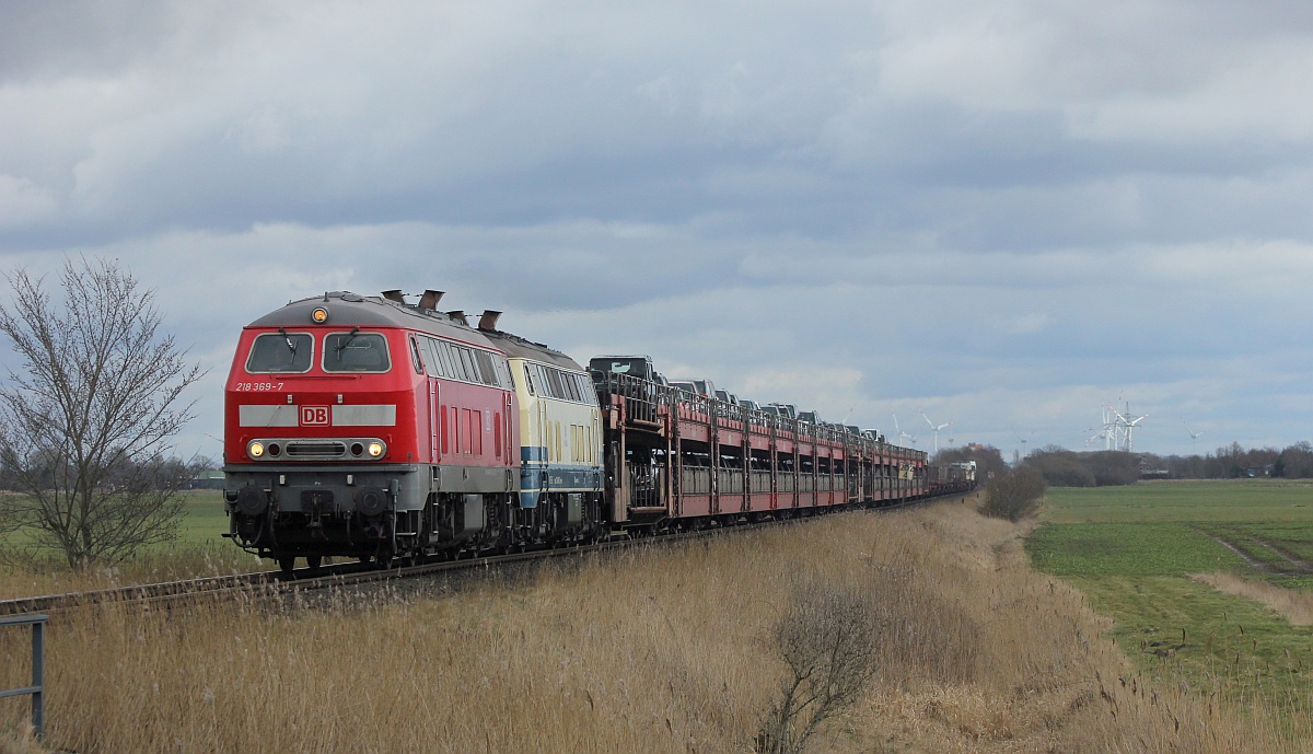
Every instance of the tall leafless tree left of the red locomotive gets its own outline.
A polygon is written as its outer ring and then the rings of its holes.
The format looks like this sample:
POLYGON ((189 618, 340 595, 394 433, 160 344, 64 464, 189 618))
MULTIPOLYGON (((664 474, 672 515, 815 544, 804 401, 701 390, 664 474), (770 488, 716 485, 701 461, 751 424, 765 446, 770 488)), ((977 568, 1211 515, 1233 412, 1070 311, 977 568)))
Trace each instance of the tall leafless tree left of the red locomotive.
POLYGON ((154 292, 85 257, 64 261, 58 303, 43 278, 7 277, 0 332, 21 369, 0 385, 0 464, 18 494, 0 518, 79 569, 176 537, 192 473, 163 452, 192 418, 180 398, 202 372, 161 331, 154 292))

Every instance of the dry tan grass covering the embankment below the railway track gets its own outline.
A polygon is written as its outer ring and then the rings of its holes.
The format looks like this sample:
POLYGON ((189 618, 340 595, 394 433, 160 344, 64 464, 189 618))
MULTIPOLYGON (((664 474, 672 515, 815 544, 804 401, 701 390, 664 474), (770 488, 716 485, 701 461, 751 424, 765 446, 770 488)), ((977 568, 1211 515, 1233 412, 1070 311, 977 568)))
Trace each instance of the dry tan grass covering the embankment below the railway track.
MULTIPOLYGON (((1136 678, 1023 529, 970 506, 850 514, 544 566, 441 599, 339 595, 51 625, 47 738, 98 751, 746 753, 810 573, 874 583, 873 690, 813 751, 1299 751, 1262 711, 1136 678)), ((0 636, 0 683, 25 636, 0 636)), ((7 686, 8 687, 8 686, 7 686)), ((13 701, 13 700, 9 700, 13 701)), ((26 705, 0 705, 0 730, 26 705)))

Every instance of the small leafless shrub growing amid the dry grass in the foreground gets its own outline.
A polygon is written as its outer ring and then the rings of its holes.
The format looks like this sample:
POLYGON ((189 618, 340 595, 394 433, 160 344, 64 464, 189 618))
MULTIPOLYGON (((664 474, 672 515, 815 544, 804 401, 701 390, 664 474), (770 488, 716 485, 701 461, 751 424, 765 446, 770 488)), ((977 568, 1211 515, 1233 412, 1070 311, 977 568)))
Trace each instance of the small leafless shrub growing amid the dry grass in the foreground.
POLYGON ((876 674, 878 606, 861 590, 798 583, 772 640, 788 675, 762 722, 756 750, 801 753, 821 726, 851 707, 876 674))

